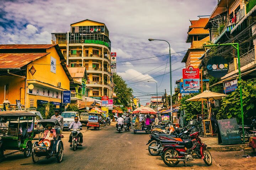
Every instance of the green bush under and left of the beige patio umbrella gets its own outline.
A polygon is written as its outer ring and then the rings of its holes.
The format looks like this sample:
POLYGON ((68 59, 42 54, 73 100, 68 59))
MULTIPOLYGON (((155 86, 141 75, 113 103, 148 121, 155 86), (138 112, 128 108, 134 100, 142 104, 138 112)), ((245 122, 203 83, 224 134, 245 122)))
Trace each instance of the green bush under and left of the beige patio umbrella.
MULTIPOLYGON (((186 113, 186 120, 196 119, 197 114, 202 113, 202 102, 190 102, 186 101, 187 99, 198 95, 197 93, 185 95, 181 99, 181 109, 185 110, 186 113)), ((204 102, 204 113, 207 113, 207 106, 206 102, 204 102)))

